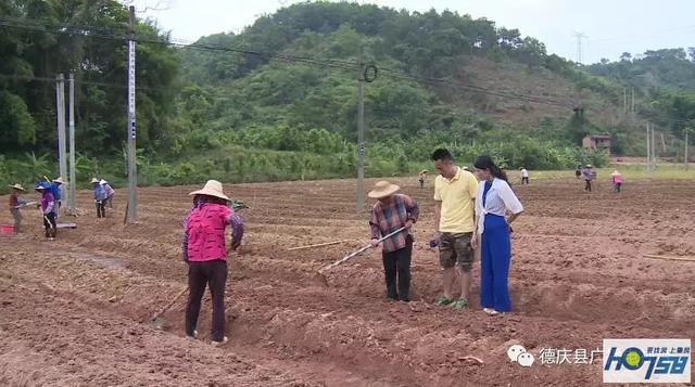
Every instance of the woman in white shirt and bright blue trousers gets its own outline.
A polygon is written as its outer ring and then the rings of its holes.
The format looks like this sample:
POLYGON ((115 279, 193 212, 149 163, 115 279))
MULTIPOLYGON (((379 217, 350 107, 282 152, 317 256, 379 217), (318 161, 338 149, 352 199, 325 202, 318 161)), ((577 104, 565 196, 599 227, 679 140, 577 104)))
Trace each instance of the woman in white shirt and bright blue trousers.
POLYGON ((476 198, 477 236, 471 242, 482 248, 480 263, 480 304, 489 314, 511 311, 508 275, 511 261, 509 223, 523 211, 523 206, 511 191, 507 176, 490 156, 480 156, 473 163, 480 180, 476 198), (511 216, 506 219, 509 210, 511 216))

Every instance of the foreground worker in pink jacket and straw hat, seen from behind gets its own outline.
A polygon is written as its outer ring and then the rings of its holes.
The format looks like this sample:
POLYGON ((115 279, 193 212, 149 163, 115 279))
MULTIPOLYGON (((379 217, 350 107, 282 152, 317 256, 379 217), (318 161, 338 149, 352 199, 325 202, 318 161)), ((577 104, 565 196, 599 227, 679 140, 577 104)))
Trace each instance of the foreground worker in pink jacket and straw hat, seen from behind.
POLYGON ((188 262, 188 306, 186 307, 186 335, 198 336, 200 302, 210 287, 213 299, 212 345, 227 343, 225 336, 225 284, 227 283, 227 249, 225 228, 233 230, 231 248, 237 249, 243 237, 241 218, 228 207, 229 197, 222 183, 207 180, 202 190, 191 192, 193 208, 184 221, 184 260, 188 262))

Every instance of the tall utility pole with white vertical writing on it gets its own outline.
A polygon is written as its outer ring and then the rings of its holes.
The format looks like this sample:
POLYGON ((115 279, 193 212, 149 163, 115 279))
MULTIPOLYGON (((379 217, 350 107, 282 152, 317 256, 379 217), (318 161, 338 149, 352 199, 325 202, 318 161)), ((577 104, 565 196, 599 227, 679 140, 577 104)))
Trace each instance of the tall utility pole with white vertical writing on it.
POLYGON ((126 224, 138 220, 138 179, 136 164, 135 114, 135 7, 129 7, 128 17, 128 205, 126 224))

